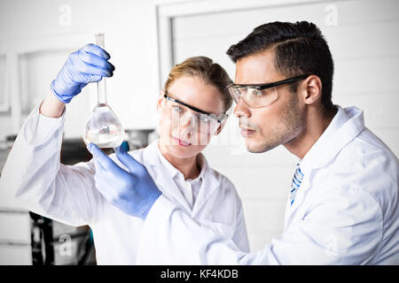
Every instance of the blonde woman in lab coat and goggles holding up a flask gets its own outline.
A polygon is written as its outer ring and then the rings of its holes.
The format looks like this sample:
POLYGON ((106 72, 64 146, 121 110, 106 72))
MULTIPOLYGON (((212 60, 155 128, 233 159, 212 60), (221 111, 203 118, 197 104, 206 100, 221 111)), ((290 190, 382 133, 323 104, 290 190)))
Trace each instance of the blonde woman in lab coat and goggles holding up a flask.
MULTIPOLYGON (((106 201, 95 183, 93 160, 60 164, 66 103, 89 82, 111 77, 109 54, 89 44, 72 53, 51 83, 51 93, 23 124, 4 165, 4 189, 27 210, 93 231, 98 264, 135 264, 143 220, 106 201)), ((246 225, 234 185, 207 164, 201 151, 219 134, 231 107, 228 74, 207 57, 191 57, 170 72, 157 101, 159 140, 110 157, 122 168, 134 157, 164 195, 203 226, 248 251, 246 225)), ((118 180, 114 180, 117 182, 118 180)), ((181 258, 184 264, 184 257, 181 258)))

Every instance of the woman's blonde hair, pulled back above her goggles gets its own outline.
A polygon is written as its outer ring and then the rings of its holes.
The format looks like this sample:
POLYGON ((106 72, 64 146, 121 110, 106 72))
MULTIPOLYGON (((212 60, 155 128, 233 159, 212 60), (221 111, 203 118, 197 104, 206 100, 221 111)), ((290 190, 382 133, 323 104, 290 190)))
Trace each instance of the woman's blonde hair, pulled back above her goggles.
POLYGON ((231 108, 232 98, 226 87, 232 81, 223 67, 214 63, 212 59, 203 56, 189 57, 181 64, 175 65, 169 73, 164 89, 168 90, 175 80, 182 77, 197 77, 215 86, 222 95, 224 111, 231 108))

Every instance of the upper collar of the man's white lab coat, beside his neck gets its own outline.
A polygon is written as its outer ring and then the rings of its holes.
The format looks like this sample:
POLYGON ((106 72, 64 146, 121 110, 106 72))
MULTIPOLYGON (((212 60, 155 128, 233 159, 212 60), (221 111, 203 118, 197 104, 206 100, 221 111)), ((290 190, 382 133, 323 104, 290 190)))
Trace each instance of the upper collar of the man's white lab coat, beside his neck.
POLYGON ((298 160, 301 172, 305 176, 310 170, 323 166, 364 129, 362 110, 357 107, 343 109, 340 105, 335 106, 338 111, 330 125, 309 149, 305 157, 298 160))

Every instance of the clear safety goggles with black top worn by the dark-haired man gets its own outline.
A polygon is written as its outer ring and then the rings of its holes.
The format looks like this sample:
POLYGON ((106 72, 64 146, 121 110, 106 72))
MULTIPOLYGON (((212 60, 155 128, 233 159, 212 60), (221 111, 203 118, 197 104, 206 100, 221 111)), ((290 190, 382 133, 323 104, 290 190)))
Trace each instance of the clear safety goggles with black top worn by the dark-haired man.
POLYGON ((269 106, 278 99, 276 87, 287 83, 292 83, 294 81, 304 80, 307 77, 309 77, 309 74, 262 84, 231 84, 227 86, 227 89, 229 90, 235 103, 239 103, 239 98, 242 98, 249 107, 260 108, 269 106))

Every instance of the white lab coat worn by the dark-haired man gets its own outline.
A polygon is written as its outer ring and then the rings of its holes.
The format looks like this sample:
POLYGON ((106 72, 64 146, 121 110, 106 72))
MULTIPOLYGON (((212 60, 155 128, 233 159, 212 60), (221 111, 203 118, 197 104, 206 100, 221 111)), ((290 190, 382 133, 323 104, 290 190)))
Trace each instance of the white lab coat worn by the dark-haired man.
POLYGON ((363 111, 339 107, 301 172, 284 232, 264 249, 241 251, 161 195, 145 220, 137 264, 184 256, 191 264, 399 264, 398 160, 364 127, 363 111))

